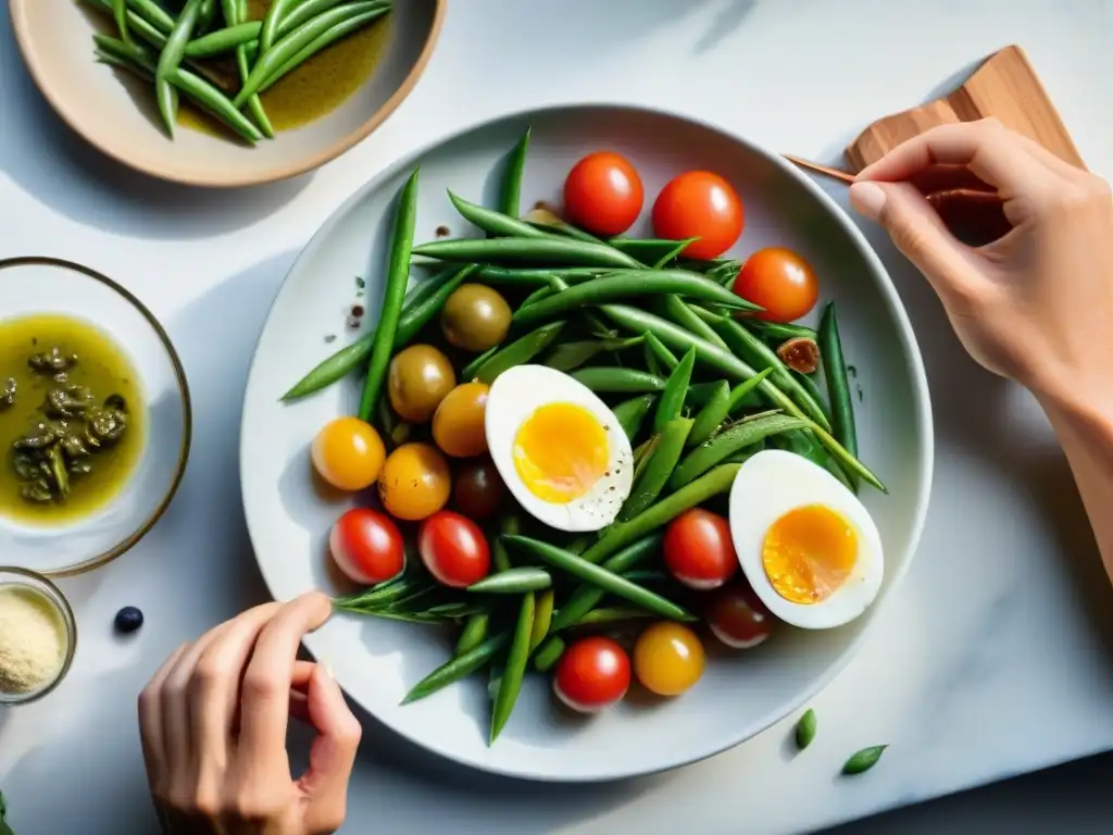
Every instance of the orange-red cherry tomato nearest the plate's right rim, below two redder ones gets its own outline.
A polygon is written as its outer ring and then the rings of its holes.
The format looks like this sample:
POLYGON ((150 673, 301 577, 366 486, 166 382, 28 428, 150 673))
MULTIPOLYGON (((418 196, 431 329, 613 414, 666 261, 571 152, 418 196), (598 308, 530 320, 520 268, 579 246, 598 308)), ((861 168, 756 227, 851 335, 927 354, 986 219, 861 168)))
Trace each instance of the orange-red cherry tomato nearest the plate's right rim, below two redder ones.
POLYGON ((758 318, 792 322, 816 306, 819 282, 811 266, 782 246, 758 249, 746 259, 735 279, 735 293, 761 305, 758 318))

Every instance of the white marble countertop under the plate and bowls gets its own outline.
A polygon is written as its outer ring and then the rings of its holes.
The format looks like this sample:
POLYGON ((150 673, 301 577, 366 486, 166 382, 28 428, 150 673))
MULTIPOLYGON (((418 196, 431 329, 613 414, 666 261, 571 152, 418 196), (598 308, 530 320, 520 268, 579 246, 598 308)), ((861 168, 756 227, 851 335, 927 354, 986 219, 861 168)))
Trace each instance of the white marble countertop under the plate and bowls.
MULTIPOLYGON (((0 714, 16 831, 154 831, 135 696, 180 640, 265 596, 235 463, 256 334, 298 248, 380 167, 465 124, 574 101, 683 110, 834 159, 870 119, 1012 42, 1083 157, 1113 175, 1106 0, 457 0, 424 79, 371 139, 293 183, 204 193, 145 179, 71 135, 0 14, 0 257, 71 258, 126 284, 166 323, 196 407, 166 518, 125 558, 65 582, 81 632, 69 678, 0 714), (111 619, 128 603, 147 625, 119 641, 111 619)), ((781 726, 671 774, 554 787, 434 760, 367 719, 346 832, 801 832, 1113 748, 1113 595, 1046 424, 973 366, 919 276, 869 234, 924 350, 938 459, 918 558, 815 700, 815 745, 790 757, 781 726), (879 767, 836 776, 876 743, 892 745, 879 767)))

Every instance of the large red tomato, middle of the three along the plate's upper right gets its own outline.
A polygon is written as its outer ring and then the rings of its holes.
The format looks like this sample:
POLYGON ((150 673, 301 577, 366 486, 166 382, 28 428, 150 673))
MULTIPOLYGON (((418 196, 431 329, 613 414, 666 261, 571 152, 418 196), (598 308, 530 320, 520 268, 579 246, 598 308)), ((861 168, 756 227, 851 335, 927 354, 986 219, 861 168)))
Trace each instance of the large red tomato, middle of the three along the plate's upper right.
POLYGON ((742 234, 746 213, 738 193, 710 171, 674 177, 653 204, 653 229, 660 238, 698 237, 684 249, 689 258, 717 258, 742 234))

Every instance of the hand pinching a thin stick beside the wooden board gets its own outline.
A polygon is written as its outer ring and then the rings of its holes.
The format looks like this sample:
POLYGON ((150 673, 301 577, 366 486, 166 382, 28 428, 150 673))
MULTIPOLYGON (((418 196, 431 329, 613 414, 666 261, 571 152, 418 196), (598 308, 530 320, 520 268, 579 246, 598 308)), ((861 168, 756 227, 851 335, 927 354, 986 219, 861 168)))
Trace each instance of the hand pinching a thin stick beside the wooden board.
POLYGON ((986 369, 1058 402, 1089 389, 1113 405, 1113 199, 1100 177, 995 119, 909 139, 850 187, 935 287, 967 351, 986 369), (995 188, 1012 226, 972 247, 924 196, 995 188))

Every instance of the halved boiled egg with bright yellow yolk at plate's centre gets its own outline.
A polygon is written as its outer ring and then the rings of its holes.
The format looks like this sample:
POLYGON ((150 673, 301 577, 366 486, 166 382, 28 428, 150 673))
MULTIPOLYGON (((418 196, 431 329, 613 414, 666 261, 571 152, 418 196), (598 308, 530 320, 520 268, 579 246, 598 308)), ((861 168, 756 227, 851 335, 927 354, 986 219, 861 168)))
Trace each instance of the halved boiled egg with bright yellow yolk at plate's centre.
POLYGON ((491 385, 491 460, 528 513, 562 531, 598 531, 630 495, 633 454, 594 392, 544 365, 519 365, 491 385))

